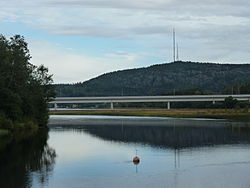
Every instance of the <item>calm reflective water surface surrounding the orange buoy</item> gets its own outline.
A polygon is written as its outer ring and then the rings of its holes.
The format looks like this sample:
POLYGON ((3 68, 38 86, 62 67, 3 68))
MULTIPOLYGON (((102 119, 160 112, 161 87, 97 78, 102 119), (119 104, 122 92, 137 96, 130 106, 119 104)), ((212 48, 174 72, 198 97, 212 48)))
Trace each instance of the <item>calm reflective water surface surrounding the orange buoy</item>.
POLYGON ((1 148, 0 165, 1 188, 249 188, 250 124, 52 116, 49 131, 1 148))

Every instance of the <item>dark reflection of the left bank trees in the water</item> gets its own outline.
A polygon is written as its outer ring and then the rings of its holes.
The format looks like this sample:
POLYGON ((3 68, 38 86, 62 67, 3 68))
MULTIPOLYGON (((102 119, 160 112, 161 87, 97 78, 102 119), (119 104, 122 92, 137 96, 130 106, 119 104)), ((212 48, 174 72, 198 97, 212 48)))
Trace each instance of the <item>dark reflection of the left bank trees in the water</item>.
POLYGON ((48 146, 48 130, 15 135, 0 150, 0 187, 43 187, 55 165, 56 152, 48 146), (26 138, 27 137, 27 138, 26 138))

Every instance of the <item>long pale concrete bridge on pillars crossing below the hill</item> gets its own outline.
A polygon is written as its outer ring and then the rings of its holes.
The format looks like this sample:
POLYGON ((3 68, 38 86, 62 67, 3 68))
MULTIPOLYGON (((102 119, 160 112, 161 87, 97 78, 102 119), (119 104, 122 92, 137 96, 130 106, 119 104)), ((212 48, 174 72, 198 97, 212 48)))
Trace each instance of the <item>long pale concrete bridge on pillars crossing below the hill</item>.
POLYGON ((170 109, 171 102, 213 102, 224 101, 226 97, 232 96, 239 101, 250 101, 250 94, 247 95, 173 95, 173 96, 113 96, 113 97, 57 97, 51 104, 57 109, 57 104, 81 104, 81 103, 110 103, 114 109, 114 103, 133 102, 166 102, 170 109))

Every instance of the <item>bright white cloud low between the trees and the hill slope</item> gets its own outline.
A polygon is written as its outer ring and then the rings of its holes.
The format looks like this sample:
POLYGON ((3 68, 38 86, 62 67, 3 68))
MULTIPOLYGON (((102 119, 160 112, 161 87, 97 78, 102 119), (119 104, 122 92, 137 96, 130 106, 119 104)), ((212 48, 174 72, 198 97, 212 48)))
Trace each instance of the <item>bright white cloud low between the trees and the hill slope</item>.
POLYGON ((85 81, 105 72, 127 69, 136 66, 132 55, 118 58, 97 58, 78 54, 60 44, 46 41, 29 41, 32 63, 44 64, 49 68, 55 83, 73 83, 85 81))

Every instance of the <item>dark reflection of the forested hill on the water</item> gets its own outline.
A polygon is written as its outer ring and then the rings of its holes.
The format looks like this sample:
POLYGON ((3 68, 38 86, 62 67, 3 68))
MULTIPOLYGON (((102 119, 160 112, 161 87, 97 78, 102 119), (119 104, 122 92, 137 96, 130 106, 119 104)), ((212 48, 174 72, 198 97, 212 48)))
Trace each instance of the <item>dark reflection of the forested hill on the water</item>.
MULTIPOLYGON (((94 124, 90 125, 63 125, 60 129, 53 131, 64 131, 73 129, 74 131, 91 134, 103 140, 116 142, 133 142, 147 144, 156 147, 166 148, 188 148, 211 145, 242 144, 250 143, 250 127, 248 124, 230 123, 223 126, 176 126, 176 125, 135 125, 126 123, 94 124)), ((55 126, 55 125, 54 125, 55 126)), ((58 125, 60 127, 60 125, 58 125)))

